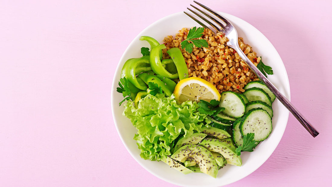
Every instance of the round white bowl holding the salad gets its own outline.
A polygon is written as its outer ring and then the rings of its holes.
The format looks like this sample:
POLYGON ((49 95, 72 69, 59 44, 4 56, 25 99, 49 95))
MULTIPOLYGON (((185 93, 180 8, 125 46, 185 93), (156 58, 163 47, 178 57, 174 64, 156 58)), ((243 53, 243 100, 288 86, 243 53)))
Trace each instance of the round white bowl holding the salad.
MULTIPOLYGON (((253 50, 257 52, 257 55, 262 56, 263 62, 272 67, 274 74, 268 76, 269 80, 281 93, 290 99, 290 85, 285 66, 277 50, 269 40, 255 27, 240 18, 222 12, 220 12, 220 14, 234 25, 237 29, 238 36, 243 38, 244 43, 253 47, 253 50)), ((149 47, 146 41, 139 40, 141 36, 150 36, 158 40, 159 43, 162 43, 164 37, 168 35, 175 36, 175 34, 182 28, 191 28, 194 26, 200 27, 200 25, 186 16, 183 12, 179 12, 158 20, 136 36, 124 51, 114 74, 111 93, 113 119, 119 136, 128 152, 151 174, 179 186, 223 186, 238 181, 251 174, 260 167, 275 150, 284 134, 289 117, 289 111, 282 105, 282 103, 278 100, 273 103, 273 130, 269 138, 261 142, 253 152, 242 152, 241 167, 228 164, 219 170, 217 178, 214 179, 203 173, 190 173, 184 175, 179 171, 170 168, 167 164, 161 161, 157 162, 142 159, 139 155, 140 150, 136 145, 136 141, 133 140, 134 134, 137 131, 129 119, 122 115, 124 107, 123 105, 119 107, 119 102, 123 100, 123 96, 116 91, 124 62, 129 58, 140 57, 141 47, 149 47)))

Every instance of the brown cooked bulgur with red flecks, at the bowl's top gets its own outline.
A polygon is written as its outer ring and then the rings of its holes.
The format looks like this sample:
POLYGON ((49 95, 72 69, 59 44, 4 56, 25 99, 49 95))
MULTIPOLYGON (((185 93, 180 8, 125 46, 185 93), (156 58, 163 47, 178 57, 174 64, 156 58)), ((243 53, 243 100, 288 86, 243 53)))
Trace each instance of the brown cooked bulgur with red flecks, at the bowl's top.
MULTIPOLYGON (((167 50, 179 47, 187 63, 189 77, 200 77, 212 83, 218 91, 244 92, 243 87, 250 81, 259 80, 252 70, 241 59, 238 53, 230 47, 225 46, 227 38, 221 33, 214 35, 210 29, 205 29, 203 36, 209 47, 195 47, 192 53, 181 48, 181 42, 187 39, 189 29, 182 28, 176 35, 167 36, 164 39, 166 46, 163 49, 163 59, 170 58, 167 50)), ((238 38, 241 50, 257 66, 260 57, 252 48, 238 38)))

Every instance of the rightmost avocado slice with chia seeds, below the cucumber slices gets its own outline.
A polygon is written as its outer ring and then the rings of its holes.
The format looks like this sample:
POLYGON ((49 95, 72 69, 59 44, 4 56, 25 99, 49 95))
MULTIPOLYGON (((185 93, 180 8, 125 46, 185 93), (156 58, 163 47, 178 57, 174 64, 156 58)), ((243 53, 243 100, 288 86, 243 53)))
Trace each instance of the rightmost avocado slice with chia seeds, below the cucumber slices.
POLYGON ((242 159, 235 152, 235 145, 231 138, 217 140, 209 139, 203 140, 199 145, 204 146, 209 151, 218 152, 225 157, 228 164, 241 166, 242 159))

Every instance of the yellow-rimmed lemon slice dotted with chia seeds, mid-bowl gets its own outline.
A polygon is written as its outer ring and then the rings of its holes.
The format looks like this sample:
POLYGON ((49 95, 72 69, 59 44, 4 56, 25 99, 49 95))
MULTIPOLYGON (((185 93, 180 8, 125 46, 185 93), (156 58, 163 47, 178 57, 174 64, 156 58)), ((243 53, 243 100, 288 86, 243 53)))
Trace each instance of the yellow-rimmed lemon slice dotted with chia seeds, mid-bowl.
POLYGON ((179 102, 205 100, 210 102, 212 99, 220 100, 220 94, 215 86, 206 80, 198 77, 182 79, 174 89, 175 99, 179 102))

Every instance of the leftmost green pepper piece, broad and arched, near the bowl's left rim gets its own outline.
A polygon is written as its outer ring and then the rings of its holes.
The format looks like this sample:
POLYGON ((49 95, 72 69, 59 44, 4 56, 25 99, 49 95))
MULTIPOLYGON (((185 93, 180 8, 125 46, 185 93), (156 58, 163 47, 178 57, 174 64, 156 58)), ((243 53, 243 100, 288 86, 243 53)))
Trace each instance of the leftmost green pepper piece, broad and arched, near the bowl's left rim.
POLYGON ((135 87, 140 90, 146 90, 147 86, 140 78, 136 78, 136 74, 144 71, 151 71, 151 66, 147 64, 150 63, 149 56, 142 56, 140 58, 130 58, 128 59, 122 68, 121 77, 125 77, 131 82, 135 87))

